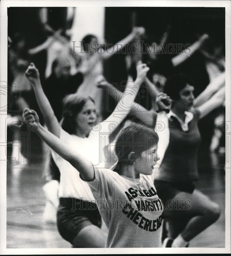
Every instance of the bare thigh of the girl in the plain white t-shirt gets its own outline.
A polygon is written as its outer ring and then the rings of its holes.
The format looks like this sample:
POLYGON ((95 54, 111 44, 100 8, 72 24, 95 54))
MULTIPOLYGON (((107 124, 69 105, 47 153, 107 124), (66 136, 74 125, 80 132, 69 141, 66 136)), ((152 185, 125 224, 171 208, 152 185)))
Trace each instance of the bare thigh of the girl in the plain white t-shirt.
POLYGON ((107 234, 95 225, 83 228, 73 240, 73 248, 105 248, 107 234))

